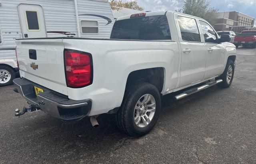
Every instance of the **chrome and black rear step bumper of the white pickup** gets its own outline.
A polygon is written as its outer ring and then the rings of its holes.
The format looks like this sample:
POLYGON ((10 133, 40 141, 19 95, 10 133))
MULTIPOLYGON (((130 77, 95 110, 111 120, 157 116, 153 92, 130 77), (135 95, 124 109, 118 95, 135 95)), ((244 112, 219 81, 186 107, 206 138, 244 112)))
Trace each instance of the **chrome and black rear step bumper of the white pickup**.
POLYGON ((18 91, 31 104, 38 105, 42 111, 62 121, 77 121, 90 113, 92 101, 90 99, 74 101, 27 79, 13 80, 14 91, 18 91), (36 97, 34 86, 44 90, 36 97))

